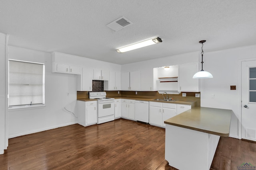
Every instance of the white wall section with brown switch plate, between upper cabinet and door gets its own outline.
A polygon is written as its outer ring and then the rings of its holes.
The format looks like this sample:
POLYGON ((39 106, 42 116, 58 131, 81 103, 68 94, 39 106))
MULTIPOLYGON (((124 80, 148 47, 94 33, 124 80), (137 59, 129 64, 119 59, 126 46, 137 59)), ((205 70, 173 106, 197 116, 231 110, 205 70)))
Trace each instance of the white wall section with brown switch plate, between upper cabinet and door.
POLYGON ((214 78, 201 80, 201 106, 232 109, 230 137, 238 138, 238 117, 241 114, 238 64, 240 59, 256 59, 256 45, 204 53, 204 56, 204 70, 212 73, 214 78), (236 90, 230 90, 232 85, 236 90))

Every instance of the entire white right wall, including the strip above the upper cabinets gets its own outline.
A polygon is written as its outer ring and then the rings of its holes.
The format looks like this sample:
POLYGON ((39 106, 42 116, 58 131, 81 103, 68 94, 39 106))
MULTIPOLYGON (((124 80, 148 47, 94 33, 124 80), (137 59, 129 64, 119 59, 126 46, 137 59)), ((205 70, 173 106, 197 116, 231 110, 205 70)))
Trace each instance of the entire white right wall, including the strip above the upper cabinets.
MULTIPOLYGON (((204 53, 204 70, 212 73, 214 78, 201 80, 201 107, 232 109, 230 137, 238 138, 238 115, 241 105, 238 93, 238 64, 240 59, 249 58, 256 58, 256 45, 204 53), (231 85, 236 85, 236 90, 230 90, 231 85)), ((138 70, 198 61, 201 62, 200 51, 124 64, 121 70, 138 70)), ((200 63, 199 68, 201 70, 200 63)))

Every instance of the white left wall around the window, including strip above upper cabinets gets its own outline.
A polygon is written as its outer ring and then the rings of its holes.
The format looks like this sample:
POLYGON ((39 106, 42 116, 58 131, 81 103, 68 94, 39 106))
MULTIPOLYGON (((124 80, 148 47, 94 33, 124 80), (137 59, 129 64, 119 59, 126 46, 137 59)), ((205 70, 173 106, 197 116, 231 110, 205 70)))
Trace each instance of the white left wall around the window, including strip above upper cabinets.
MULTIPOLYGON (((52 73, 52 55, 9 46, 9 59, 45 64, 45 107, 36 109, 9 109, 9 138, 26 135, 77 123, 76 76, 74 74, 52 73), (67 96, 69 92, 69 96, 67 96)), ((63 64, 119 70, 121 66, 61 53, 53 61, 63 64)), ((79 75, 78 75, 79 76, 79 75)))

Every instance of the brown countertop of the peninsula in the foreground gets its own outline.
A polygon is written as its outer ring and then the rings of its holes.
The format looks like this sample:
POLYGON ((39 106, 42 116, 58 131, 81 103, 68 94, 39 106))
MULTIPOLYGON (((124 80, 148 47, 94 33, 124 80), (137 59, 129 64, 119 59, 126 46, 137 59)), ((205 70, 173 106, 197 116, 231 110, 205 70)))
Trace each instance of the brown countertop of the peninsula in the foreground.
POLYGON ((228 137, 232 110, 194 107, 184 111, 164 123, 195 131, 228 137))

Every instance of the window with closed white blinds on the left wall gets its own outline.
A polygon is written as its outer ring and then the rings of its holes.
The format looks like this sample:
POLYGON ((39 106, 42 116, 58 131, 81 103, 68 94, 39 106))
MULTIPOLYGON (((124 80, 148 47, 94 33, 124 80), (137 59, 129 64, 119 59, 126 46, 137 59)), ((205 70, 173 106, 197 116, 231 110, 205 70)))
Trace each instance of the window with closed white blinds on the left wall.
POLYGON ((9 108, 44 105, 44 64, 9 60, 9 108))

